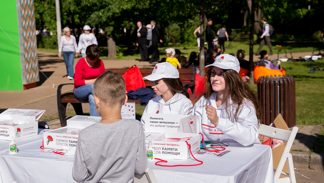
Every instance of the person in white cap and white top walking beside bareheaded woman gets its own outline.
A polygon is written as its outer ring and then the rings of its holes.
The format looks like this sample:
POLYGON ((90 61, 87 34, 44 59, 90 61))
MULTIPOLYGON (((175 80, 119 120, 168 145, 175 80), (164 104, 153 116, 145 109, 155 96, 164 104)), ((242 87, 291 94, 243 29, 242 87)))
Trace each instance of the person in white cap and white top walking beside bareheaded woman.
POLYGON ((96 38, 95 34, 90 33, 90 30, 91 30, 91 28, 89 25, 84 25, 84 27, 83 27, 84 33, 82 33, 79 37, 78 53, 80 54, 80 50, 82 49, 81 50, 82 58, 87 56, 86 49, 89 45, 91 45, 91 44, 98 45, 97 38, 96 38))

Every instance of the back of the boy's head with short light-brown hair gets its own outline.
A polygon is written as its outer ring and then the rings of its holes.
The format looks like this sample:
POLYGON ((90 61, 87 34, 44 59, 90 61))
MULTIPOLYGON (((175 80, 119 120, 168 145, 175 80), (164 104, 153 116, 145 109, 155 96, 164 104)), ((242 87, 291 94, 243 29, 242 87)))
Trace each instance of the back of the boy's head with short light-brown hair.
POLYGON ((122 107, 126 95, 125 80, 121 75, 108 70, 97 78, 93 94, 106 106, 122 107))

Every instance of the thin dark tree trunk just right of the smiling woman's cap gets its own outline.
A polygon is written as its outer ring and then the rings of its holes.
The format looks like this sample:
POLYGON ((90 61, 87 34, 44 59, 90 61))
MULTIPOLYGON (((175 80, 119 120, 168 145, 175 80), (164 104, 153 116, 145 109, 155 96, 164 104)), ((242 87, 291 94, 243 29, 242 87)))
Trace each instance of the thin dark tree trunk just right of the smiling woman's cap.
POLYGON ((253 67, 254 67, 254 63, 253 63, 253 30, 254 30, 254 16, 252 14, 254 14, 254 2, 251 3, 251 8, 250 8, 250 14, 251 14, 251 27, 250 27, 250 53, 249 53, 249 62, 250 62, 250 80, 249 83, 250 84, 255 84, 254 83, 254 73, 253 73, 253 67))

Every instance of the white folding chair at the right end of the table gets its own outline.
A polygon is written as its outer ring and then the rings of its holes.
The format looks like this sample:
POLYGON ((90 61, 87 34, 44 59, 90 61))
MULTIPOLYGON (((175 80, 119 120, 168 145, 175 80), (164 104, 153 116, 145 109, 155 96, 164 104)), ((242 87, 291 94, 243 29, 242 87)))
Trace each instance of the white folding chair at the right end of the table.
POLYGON ((276 172, 274 177, 275 183, 296 183, 293 157, 292 154, 289 153, 289 151, 292 148, 297 132, 298 132, 297 127, 294 127, 292 131, 289 131, 289 130, 283 130, 274 127, 269 127, 263 124, 259 125, 260 135, 271 137, 274 139, 279 139, 282 141, 287 141, 286 148, 284 150, 283 155, 281 156, 278 168, 277 170, 274 169, 274 172, 276 172), (289 174, 282 172, 286 161, 288 164, 289 174), (281 174, 287 177, 279 179, 281 174))

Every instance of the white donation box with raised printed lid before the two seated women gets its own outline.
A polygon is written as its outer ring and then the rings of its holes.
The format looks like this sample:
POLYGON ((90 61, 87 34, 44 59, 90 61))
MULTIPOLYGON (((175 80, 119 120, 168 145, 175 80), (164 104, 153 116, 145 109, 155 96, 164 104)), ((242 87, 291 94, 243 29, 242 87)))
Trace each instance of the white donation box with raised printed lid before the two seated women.
POLYGON ((199 127, 200 116, 146 114, 146 143, 152 141, 155 158, 187 160, 191 157, 187 143, 192 154, 200 150, 199 127))

